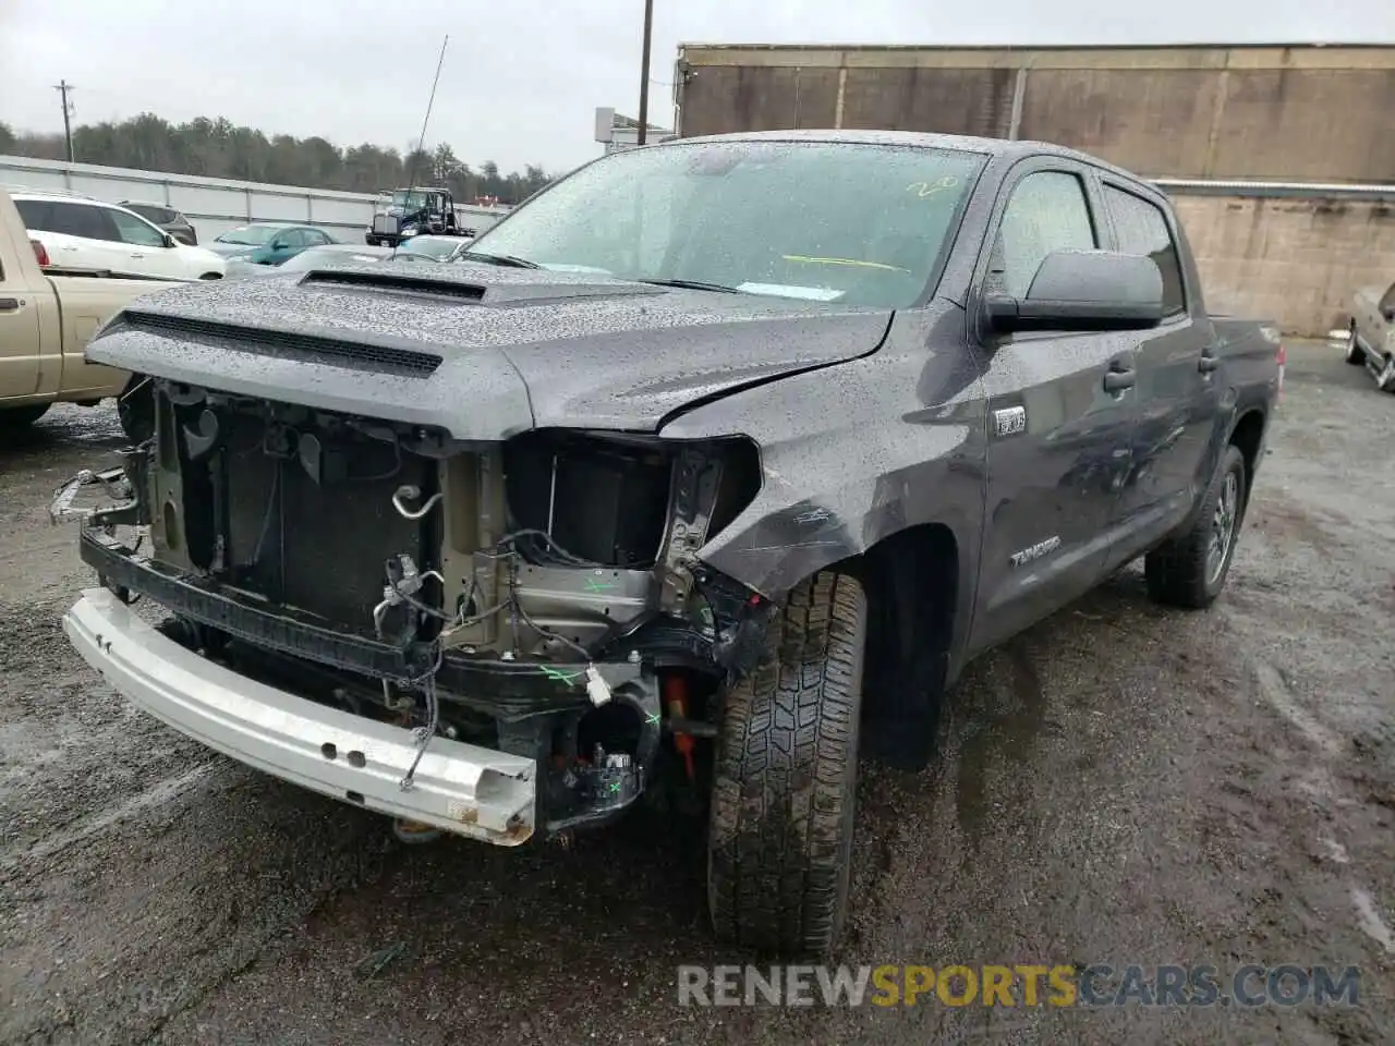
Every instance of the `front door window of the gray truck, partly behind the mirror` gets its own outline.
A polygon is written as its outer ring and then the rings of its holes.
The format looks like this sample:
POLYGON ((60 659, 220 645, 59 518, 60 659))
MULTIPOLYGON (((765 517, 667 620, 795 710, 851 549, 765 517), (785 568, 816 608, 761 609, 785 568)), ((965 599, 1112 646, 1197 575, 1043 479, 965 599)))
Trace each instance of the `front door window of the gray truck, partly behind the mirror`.
POLYGON ((1053 251, 1094 250, 1085 187, 1074 174, 1039 170, 1017 183, 997 230, 995 272, 1003 291, 1025 297, 1036 269, 1053 251))

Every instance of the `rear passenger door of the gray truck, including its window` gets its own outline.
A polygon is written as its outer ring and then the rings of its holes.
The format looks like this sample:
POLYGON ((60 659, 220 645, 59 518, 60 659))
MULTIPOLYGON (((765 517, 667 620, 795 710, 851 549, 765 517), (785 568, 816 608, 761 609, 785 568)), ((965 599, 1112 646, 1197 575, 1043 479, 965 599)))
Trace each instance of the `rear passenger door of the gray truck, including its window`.
POLYGON ((1131 332, 1138 351, 1138 428, 1133 467, 1120 491, 1116 540, 1106 568, 1129 562, 1175 530, 1211 481, 1212 434, 1221 391, 1208 350, 1215 329, 1200 293, 1183 278, 1179 241, 1168 211, 1127 183, 1102 177, 1101 198, 1115 248, 1152 258, 1162 272, 1163 321, 1131 332), (1196 297, 1193 303, 1190 298, 1196 297))

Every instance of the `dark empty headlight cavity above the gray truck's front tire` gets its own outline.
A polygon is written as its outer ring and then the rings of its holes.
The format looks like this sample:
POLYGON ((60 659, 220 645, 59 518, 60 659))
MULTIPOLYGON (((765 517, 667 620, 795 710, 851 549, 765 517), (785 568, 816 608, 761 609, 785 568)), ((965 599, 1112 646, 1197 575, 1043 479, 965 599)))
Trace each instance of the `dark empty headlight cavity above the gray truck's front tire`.
POLYGON ((603 432, 518 437, 505 446, 504 470, 518 527, 547 533, 576 558, 629 570, 658 561, 671 509, 686 505, 698 516, 679 520, 682 533, 698 523, 711 536, 751 503, 760 483, 746 441, 684 445, 603 432), (696 490, 698 457, 714 484, 707 499, 696 490), (685 481, 695 490, 684 491, 685 481))

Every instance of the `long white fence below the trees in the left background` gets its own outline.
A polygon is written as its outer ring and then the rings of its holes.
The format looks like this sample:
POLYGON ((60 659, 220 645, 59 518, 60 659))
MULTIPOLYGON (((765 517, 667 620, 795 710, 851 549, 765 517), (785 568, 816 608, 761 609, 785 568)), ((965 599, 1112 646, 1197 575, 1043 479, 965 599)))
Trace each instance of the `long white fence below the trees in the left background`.
MULTIPOLYGON (((374 204, 374 197, 363 192, 163 174, 27 156, 0 156, 0 188, 61 188, 109 204, 123 199, 169 204, 194 225, 199 243, 247 222, 300 222, 319 226, 336 240, 363 243, 374 204)), ((456 211, 467 229, 484 232, 509 209, 458 205, 456 211)))

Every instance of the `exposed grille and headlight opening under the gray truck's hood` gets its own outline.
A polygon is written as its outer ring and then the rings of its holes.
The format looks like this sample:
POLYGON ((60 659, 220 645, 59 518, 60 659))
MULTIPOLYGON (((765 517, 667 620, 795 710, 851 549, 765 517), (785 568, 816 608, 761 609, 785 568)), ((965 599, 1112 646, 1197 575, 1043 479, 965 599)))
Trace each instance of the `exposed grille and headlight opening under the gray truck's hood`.
POLYGON ((398 423, 156 388, 142 478, 155 558, 402 646, 446 630, 449 646, 555 655, 558 636, 604 639, 760 485, 745 439, 548 430, 465 449, 398 423), (389 576, 410 579, 410 600, 385 593, 389 576))

